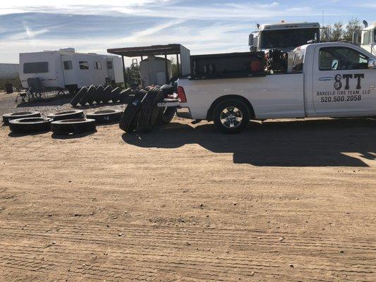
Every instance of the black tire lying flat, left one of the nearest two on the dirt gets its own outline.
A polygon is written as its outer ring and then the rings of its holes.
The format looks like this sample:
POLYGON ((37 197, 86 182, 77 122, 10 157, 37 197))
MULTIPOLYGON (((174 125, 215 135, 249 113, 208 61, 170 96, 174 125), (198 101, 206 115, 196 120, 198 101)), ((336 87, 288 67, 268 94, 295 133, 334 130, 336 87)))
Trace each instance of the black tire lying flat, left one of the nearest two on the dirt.
POLYGON ((12 133, 47 132, 51 129, 52 118, 18 118, 9 121, 12 133))

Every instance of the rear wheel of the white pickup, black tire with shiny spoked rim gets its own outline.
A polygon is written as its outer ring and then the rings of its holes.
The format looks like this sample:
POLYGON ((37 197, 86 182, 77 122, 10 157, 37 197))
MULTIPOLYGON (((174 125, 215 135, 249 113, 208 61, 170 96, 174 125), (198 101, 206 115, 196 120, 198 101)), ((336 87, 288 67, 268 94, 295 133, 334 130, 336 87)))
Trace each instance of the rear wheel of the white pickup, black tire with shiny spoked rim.
POLYGON ((215 127, 222 133, 240 133, 250 121, 250 111, 248 106, 241 102, 241 100, 226 99, 219 102, 219 104, 217 104, 215 107, 213 121, 215 127), (231 111, 231 109, 233 110, 231 111), (227 110, 227 113, 229 113, 231 116, 228 116, 228 114, 224 112, 225 110, 227 110), (224 117, 229 118, 229 120, 222 123, 221 118, 224 117))

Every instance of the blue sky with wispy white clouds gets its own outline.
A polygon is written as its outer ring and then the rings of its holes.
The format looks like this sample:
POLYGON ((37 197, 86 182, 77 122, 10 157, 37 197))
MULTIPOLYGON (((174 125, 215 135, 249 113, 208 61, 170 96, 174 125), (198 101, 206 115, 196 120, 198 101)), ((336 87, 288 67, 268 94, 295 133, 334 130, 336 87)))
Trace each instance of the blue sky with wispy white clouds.
POLYGON ((256 23, 352 17, 376 21, 376 1, 13 0, 0 4, 0 63, 18 63, 28 51, 180 43, 192 54, 248 51, 256 23))

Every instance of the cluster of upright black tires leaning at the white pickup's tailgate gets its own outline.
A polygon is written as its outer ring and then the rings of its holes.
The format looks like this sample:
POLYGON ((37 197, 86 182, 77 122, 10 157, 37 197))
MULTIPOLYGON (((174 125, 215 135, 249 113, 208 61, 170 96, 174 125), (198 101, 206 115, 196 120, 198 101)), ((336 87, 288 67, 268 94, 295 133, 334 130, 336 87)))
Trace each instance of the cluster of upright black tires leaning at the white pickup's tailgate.
POLYGON ((126 133, 149 133, 156 126, 169 123, 176 109, 159 108, 157 104, 162 102, 169 94, 174 93, 174 86, 163 85, 149 86, 145 90, 139 90, 123 111, 119 127, 126 133))

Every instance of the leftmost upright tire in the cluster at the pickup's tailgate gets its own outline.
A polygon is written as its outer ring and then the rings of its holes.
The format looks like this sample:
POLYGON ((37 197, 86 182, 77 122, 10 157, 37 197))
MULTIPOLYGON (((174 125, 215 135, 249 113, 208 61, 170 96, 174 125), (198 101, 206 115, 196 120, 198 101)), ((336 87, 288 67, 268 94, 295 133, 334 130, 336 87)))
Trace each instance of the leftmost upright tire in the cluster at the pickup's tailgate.
POLYGON ((142 102, 147 97, 148 92, 146 90, 138 90, 135 93, 133 101, 128 104, 126 109, 121 115, 119 128, 124 130, 126 133, 131 133, 136 128, 136 123, 138 120, 138 113, 142 106, 142 102))

